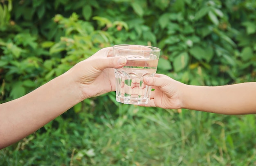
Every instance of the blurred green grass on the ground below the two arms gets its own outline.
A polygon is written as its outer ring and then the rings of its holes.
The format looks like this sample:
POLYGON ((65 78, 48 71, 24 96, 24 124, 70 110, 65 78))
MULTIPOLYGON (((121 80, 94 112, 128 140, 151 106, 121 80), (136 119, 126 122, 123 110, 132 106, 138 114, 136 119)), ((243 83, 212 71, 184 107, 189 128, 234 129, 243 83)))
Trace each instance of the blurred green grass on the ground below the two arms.
POLYGON ((2 166, 254 166, 256 115, 118 105, 65 113, 0 150, 2 166), (72 118, 67 118, 72 116, 72 118))

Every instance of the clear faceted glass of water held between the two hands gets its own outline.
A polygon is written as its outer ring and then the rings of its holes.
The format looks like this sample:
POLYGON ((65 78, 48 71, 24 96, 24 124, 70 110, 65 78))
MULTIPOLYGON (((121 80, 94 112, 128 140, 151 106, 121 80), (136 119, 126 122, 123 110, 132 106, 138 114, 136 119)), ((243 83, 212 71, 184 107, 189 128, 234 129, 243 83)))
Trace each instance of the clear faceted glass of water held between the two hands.
POLYGON ((124 104, 147 104, 151 86, 143 83, 145 76, 154 76, 160 49, 152 46, 115 45, 114 55, 126 57, 126 66, 115 69, 116 99, 124 104))

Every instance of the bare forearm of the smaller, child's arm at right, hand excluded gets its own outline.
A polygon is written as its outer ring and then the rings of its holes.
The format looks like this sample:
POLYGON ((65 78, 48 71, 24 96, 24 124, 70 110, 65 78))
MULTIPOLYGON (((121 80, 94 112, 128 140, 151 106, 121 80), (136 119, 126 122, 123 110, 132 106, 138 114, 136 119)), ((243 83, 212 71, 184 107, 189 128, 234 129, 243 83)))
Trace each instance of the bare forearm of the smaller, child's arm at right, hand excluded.
POLYGON ((256 83, 225 86, 187 85, 183 107, 218 114, 255 114, 256 83))

